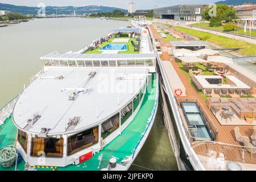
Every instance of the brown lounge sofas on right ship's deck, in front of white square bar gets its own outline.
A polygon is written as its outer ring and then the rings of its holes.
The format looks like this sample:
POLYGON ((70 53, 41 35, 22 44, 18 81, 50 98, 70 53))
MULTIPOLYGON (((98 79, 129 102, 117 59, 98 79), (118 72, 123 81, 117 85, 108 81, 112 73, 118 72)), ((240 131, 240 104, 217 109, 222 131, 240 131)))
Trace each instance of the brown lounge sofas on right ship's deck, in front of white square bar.
POLYGON ((256 118, 256 100, 251 98, 207 98, 206 104, 208 107, 216 106, 220 109, 224 106, 230 106, 231 110, 240 119, 245 119, 246 115, 253 115, 256 118))

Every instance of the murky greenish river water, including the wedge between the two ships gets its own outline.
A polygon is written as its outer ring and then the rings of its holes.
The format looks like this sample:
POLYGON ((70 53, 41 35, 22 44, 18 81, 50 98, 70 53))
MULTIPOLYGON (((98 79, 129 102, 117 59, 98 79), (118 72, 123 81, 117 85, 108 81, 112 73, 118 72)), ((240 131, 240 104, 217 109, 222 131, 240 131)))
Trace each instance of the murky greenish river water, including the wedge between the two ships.
MULTIPOLYGON (((40 56, 76 51, 114 28, 130 26, 118 20, 84 18, 35 19, 0 28, 0 108, 22 92, 23 85, 42 69, 40 56)), ((161 115, 157 112, 151 133, 131 170, 177 170, 161 115)))

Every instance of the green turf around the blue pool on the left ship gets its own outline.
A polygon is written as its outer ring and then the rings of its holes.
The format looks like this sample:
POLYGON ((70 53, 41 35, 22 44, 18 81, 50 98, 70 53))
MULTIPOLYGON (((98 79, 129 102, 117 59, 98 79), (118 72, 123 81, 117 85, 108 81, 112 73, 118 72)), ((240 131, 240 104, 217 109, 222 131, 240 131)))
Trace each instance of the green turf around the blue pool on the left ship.
MULTIPOLYGON (((121 38, 126 38, 126 37, 121 37, 121 38)), ((107 44, 110 44, 114 39, 115 38, 111 38, 111 39, 109 39, 109 42, 103 42, 99 48, 96 48, 92 51, 87 51, 86 53, 102 53, 102 51, 99 51, 99 49, 101 47, 107 46, 107 44)), ((132 40, 135 44, 137 43, 136 39, 130 38, 129 42, 125 43, 127 45, 128 51, 119 51, 119 53, 140 53, 140 51, 134 51, 134 47, 132 46, 132 40)), ((124 44, 124 43, 122 43, 122 44, 124 44)), ((139 50, 140 50, 140 47, 139 47, 139 50)))

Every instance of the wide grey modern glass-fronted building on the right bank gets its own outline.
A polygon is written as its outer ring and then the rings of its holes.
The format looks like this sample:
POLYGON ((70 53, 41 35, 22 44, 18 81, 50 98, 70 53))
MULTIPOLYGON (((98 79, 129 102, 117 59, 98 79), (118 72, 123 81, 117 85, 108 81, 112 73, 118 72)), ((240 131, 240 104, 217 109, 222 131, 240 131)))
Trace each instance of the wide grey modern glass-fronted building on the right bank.
POLYGON ((154 9, 154 18, 201 21, 202 10, 208 5, 177 5, 154 9))

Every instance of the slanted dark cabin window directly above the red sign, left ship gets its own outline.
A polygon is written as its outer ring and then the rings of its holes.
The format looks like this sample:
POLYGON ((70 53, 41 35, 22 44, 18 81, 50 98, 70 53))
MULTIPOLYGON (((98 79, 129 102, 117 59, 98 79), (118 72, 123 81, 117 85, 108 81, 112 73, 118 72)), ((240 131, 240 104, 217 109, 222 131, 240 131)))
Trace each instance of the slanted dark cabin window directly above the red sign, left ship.
POLYGON ((68 137, 68 155, 75 154, 97 143, 99 140, 98 132, 99 127, 96 126, 68 137))

